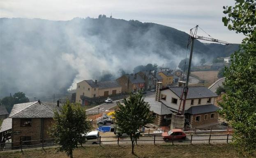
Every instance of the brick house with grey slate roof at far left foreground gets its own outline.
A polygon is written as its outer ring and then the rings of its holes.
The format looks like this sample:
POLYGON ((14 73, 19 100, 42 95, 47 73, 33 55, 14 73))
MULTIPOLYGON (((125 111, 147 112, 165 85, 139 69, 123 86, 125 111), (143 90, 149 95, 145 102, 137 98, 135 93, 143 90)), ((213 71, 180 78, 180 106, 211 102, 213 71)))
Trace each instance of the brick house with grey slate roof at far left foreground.
MULTIPOLYGON (((43 103, 40 100, 15 104, 9 115, 12 119, 12 142, 51 138, 47 131, 53 124, 53 111, 59 111, 61 106, 60 101, 43 103)), ((26 142, 26 144, 33 144, 33 142, 26 142)), ((13 143, 13 147, 17 145, 19 143, 13 143)))

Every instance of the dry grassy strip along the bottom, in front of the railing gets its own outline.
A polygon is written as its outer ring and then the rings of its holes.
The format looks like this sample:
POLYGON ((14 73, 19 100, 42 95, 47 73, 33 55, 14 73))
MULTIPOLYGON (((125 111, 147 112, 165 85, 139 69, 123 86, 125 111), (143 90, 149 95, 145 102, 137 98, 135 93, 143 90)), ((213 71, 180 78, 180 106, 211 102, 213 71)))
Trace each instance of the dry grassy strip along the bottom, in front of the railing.
MULTIPOLYGON (((90 146, 74 150, 74 158, 241 158, 232 145, 138 145, 135 155, 131 146, 90 146)), ((68 158, 55 148, 0 152, 0 158, 68 158)))

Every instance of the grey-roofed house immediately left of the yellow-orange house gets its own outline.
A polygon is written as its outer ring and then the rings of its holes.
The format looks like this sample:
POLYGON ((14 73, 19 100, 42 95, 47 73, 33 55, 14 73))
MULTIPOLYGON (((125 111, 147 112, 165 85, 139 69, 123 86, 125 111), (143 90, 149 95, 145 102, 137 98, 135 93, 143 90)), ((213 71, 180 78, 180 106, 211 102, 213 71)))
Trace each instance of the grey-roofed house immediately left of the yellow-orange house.
POLYGON ((145 90, 155 89, 156 83, 161 82, 163 79, 158 73, 151 71, 140 71, 137 74, 145 80, 145 90))

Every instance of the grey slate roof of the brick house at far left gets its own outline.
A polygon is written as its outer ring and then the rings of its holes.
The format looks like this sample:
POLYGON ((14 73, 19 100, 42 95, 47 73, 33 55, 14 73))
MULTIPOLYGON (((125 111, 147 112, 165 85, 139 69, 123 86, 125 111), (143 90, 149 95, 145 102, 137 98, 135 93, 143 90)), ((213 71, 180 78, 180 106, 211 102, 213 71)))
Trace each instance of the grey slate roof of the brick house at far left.
POLYGON ((59 111, 60 106, 57 103, 47 102, 29 102, 15 104, 9 115, 9 118, 53 118, 54 110, 59 111))

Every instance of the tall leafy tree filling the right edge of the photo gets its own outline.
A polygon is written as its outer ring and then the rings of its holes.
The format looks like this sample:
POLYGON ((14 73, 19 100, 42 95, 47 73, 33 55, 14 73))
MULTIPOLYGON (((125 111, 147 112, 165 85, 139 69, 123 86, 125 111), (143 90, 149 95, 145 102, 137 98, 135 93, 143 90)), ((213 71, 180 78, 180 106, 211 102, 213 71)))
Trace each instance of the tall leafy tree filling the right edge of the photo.
POLYGON ((236 0, 235 7, 224 7, 224 25, 242 32, 246 38, 240 50, 231 55, 231 66, 225 68, 226 90, 220 103, 220 114, 235 129, 235 144, 244 151, 256 150, 256 1, 236 0))

